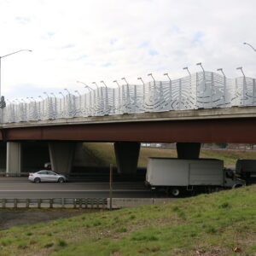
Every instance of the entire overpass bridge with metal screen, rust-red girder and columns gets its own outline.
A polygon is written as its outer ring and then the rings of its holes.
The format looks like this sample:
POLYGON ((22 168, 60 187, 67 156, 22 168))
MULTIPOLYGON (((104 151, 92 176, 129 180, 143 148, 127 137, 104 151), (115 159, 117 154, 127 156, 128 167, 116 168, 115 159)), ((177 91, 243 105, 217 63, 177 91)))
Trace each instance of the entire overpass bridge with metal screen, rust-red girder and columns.
POLYGON ((134 172, 142 142, 177 142, 181 158, 198 157, 200 143, 256 143, 255 106, 256 79, 201 72, 8 103, 0 140, 7 172, 20 172, 22 141, 49 142, 56 172, 70 170, 76 142, 113 142, 119 172, 134 172))

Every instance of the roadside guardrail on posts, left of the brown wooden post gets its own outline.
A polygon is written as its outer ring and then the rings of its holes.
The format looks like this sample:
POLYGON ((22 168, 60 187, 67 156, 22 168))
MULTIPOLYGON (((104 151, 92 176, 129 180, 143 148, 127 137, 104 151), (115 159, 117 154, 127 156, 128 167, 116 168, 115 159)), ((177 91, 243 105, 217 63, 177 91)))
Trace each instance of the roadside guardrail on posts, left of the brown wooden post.
POLYGON ((78 208, 105 209, 107 198, 49 198, 49 199, 0 199, 0 207, 5 208, 78 208))

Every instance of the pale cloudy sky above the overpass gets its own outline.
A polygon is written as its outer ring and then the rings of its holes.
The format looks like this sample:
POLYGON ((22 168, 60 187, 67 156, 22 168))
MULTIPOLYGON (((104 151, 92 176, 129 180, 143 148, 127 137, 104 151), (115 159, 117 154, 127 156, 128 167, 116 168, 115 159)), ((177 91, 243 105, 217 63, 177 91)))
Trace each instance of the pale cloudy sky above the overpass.
POLYGON ((7 99, 165 80, 222 67, 256 78, 255 0, 0 0, 1 93, 7 99))

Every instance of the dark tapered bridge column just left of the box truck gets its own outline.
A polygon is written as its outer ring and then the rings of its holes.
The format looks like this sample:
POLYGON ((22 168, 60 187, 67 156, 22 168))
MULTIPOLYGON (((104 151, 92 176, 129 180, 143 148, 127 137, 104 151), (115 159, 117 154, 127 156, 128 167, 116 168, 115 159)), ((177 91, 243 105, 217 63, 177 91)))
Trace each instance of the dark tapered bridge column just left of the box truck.
POLYGON ((140 143, 114 143, 114 153, 119 173, 136 173, 140 143))

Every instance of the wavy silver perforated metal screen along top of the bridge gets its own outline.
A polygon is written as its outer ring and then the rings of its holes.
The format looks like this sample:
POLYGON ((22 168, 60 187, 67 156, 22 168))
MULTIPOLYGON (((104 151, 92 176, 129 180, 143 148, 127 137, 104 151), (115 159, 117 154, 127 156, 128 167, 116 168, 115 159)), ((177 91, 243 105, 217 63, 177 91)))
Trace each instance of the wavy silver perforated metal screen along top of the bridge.
POLYGON ((123 113, 163 112, 198 108, 256 105, 256 79, 227 79, 199 72, 182 79, 99 87, 84 95, 69 93, 44 100, 8 102, 0 109, 0 123, 90 117, 123 113))

